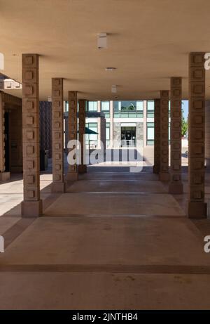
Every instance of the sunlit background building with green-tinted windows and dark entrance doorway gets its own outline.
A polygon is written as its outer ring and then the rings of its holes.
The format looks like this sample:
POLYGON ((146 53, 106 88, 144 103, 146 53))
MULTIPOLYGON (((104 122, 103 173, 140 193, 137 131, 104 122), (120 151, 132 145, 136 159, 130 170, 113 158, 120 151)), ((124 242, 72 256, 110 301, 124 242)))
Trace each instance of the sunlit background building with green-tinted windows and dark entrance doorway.
MULTIPOLYGON (((144 146, 154 144, 154 101, 88 101, 87 112, 103 112, 106 118, 106 147, 112 141, 122 146, 135 146, 142 140, 144 146)), ((101 139, 100 120, 86 118, 86 125, 97 131, 91 141, 101 139)))

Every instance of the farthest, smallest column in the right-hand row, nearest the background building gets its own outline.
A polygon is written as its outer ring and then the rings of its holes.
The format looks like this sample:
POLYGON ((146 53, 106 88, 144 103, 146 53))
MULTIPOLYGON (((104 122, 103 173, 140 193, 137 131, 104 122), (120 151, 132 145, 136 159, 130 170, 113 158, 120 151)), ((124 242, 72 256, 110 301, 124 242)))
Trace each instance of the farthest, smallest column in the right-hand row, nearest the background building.
POLYGON ((160 99, 155 99, 155 141, 154 141, 154 166, 153 173, 160 172, 160 99))

